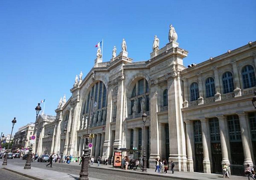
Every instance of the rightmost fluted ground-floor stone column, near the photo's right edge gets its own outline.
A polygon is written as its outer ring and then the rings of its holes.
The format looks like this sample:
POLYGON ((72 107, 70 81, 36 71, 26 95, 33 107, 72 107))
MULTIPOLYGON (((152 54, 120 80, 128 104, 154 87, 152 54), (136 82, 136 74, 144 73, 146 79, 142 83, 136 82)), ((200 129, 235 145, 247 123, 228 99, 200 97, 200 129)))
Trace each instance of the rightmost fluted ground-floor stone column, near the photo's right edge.
POLYGON ((246 121, 246 113, 239 113, 239 122, 241 128, 241 136, 242 136, 242 143, 243 143, 243 154, 244 154, 244 167, 247 167, 247 164, 253 165, 252 163, 252 141, 250 136, 249 124, 246 121))

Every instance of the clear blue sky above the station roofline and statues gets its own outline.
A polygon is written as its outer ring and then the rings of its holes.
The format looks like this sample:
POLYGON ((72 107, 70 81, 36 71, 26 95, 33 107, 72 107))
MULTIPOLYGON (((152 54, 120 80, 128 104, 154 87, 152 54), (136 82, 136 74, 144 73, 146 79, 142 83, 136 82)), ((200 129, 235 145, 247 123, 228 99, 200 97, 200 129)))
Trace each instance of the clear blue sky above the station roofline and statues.
MULTIPOLYGON (((46 99, 55 115, 60 96, 80 71, 94 64, 104 39, 103 61, 126 39, 129 57, 148 60, 154 35, 160 48, 169 24, 179 46, 189 51, 184 64, 199 63, 256 40, 256 1, 1 1, 0 133, 10 134, 35 121, 35 106, 46 99)), ((83 76, 83 77, 84 77, 83 76)), ((42 105, 43 106, 43 105, 42 105)))

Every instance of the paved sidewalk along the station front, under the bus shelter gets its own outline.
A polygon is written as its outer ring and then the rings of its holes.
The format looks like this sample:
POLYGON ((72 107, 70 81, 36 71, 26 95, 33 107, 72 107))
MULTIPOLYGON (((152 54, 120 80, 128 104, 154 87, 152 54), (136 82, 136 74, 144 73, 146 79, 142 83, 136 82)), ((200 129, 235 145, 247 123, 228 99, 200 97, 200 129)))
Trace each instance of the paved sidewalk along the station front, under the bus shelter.
MULTIPOLYGON (((70 165, 79 165, 79 163, 70 163, 70 165)), ((150 175, 150 176, 162 176, 162 177, 173 177, 177 179, 187 179, 187 180, 212 180, 212 179, 224 179, 221 174, 206 174, 206 173, 197 173, 197 172, 174 172, 174 174, 171 173, 171 171, 168 171, 167 174, 164 173, 157 173, 155 172, 155 169, 147 169, 147 172, 141 172, 140 170, 124 170, 120 168, 114 168, 112 165, 102 165, 98 167, 97 163, 94 163, 93 166, 90 166, 92 168, 98 168, 98 169, 106 169, 106 170, 112 170, 112 171, 123 171, 128 173, 139 173, 144 175, 150 175)), ((90 169, 89 169, 90 173, 90 169)), ((241 177, 241 176, 230 176, 231 179, 234 180, 245 180, 248 179, 248 177, 241 177)), ((226 179, 226 178, 225 178, 226 179)))

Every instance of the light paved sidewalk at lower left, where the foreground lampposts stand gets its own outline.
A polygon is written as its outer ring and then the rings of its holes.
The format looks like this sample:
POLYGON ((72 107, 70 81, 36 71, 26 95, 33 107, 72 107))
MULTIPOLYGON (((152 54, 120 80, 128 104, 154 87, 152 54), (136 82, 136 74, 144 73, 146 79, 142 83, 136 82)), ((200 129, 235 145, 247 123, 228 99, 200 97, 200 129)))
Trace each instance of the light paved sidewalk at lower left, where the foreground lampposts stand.
MULTIPOLYGON (((76 180, 79 175, 60 173, 58 171, 46 170, 37 167, 31 167, 31 169, 24 169, 23 166, 17 166, 14 164, 7 164, 7 166, 1 166, 3 169, 32 178, 37 180, 76 180)), ((100 180, 96 178, 89 177, 90 180, 100 180)))

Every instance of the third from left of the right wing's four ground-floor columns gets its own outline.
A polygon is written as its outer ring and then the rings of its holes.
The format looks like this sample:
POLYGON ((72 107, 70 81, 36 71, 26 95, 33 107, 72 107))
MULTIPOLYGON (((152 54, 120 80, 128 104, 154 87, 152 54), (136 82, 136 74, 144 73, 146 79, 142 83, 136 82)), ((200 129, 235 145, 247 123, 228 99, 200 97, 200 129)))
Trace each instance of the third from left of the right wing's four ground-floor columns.
POLYGON ((227 163, 230 164, 231 161, 231 152, 229 145, 229 135, 227 127, 227 118, 226 116, 217 116, 219 119, 219 128, 220 128, 220 143, 221 143, 221 153, 222 161, 221 164, 227 163))

